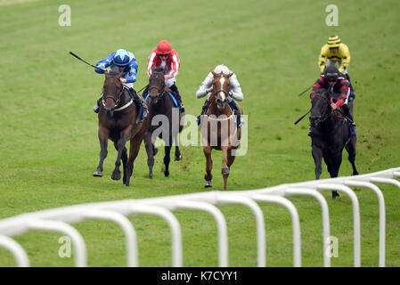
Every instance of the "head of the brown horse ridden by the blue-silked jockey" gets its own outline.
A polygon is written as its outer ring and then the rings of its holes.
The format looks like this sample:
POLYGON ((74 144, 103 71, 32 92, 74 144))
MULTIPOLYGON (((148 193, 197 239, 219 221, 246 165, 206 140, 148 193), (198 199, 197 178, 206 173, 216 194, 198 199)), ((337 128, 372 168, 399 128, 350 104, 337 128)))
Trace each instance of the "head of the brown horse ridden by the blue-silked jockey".
POLYGON ((109 70, 105 72, 105 80, 102 92, 102 105, 109 117, 114 114, 114 108, 121 101, 121 95, 124 93, 124 86, 119 78, 122 72, 117 70, 109 70))

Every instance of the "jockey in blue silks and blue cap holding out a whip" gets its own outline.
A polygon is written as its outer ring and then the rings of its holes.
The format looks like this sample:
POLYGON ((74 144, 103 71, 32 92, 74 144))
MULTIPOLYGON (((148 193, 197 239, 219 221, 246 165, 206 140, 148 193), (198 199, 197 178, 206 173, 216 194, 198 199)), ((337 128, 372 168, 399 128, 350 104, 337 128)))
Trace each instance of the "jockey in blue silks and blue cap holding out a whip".
MULTIPOLYGON (((128 93, 137 102, 142 108, 142 118, 140 118, 140 123, 143 122, 143 119, 146 118, 148 114, 147 104, 144 101, 143 97, 136 93, 134 89, 134 82, 136 81, 136 73, 137 73, 137 63, 135 59, 134 53, 131 53, 124 49, 118 49, 114 53, 109 54, 102 61, 98 61, 96 67, 99 69, 94 69, 97 73, 104 73, 102 69, 106 69, 110 67, 110 69, 117 69, 119 72, 122 72, 122 77, 120 78, 122 84, 127 89, 128 93)), ((100 102, 102 98, 97 100, 97 104, 94 106, 94 112, 98 113, 100 108, 100 102)))

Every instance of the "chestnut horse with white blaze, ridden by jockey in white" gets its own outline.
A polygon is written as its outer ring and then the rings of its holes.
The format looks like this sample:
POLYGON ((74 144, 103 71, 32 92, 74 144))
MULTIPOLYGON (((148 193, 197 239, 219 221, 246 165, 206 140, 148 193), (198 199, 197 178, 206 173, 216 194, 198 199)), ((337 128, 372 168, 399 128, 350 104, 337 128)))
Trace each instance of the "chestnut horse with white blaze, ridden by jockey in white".
MULTIPOLYGON (((229 77, 233 76, 233 72, 225 75, 223 72, 214 75, 213 91, 208 99, 208 110, 201 116, 200 132, 203 152, 206 157, 206 175, 204 179, 205 188, 212 187, 211 174, 213 161, 211 159, 211 151, 222 151, 223 161, 221 173, 224 177, 224 190, 226 190, 230 167, 235 159, 234 151, 239 147, 241 142, 241 128, 236 126, 236 118, 233 110, 227 104, 229 94, 229 77)), ((238 105, 241 115, 243 110, 238 105)))

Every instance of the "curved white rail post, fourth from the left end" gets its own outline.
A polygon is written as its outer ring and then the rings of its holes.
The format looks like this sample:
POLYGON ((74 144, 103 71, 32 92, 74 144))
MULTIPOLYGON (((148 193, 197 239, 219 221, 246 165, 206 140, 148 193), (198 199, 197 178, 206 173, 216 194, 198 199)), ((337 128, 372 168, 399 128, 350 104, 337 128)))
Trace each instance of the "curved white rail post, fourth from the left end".
MULTIPOLYGON (((173 202, 173 201, 171 201, 173 202)), ((166 208, 159 206, 151 206, 144 204, 136 204, 133 202, 128 208, 129 214, 147 214, 160 216, 167 221, 171 230, 171 250, 172 250, 172 265, 174 267, 183 266, 183 249, 182 249, 182 232, 176 216, 174 216, 166 208)))

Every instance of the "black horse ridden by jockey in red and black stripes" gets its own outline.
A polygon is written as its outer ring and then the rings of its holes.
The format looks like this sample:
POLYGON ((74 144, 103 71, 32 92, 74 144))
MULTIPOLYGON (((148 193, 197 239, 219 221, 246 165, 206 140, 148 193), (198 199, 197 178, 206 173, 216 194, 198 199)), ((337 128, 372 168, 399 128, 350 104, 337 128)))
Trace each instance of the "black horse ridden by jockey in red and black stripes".
MULTIPOLYGON (((315 164, 315 179, 322 174, 322 158, 328 167, 331 178, 338 177, 342 161, 342 151, 346 148, 348 161, 353 167, 353 175, 358 175, 355 168, 356 136, 350 136, 345 118, 331 109, 330 94, 321 91, 314 94, 312 100, 310 124, 312 154, 315 164)), ((332 191, 332 199, 339 196, 338 191, 332 191)))

